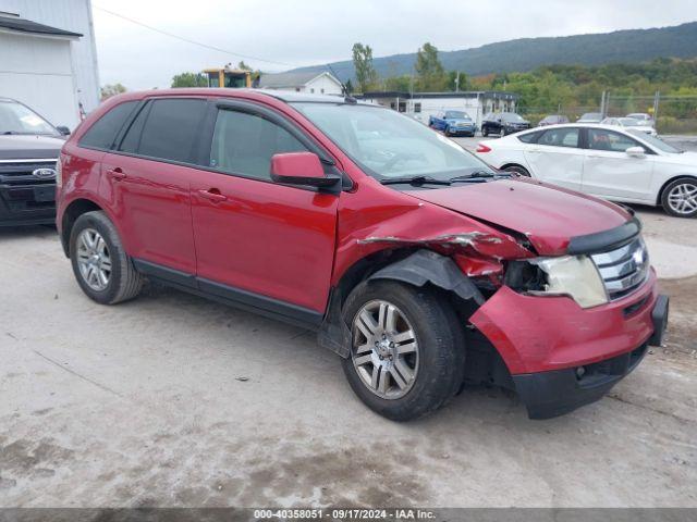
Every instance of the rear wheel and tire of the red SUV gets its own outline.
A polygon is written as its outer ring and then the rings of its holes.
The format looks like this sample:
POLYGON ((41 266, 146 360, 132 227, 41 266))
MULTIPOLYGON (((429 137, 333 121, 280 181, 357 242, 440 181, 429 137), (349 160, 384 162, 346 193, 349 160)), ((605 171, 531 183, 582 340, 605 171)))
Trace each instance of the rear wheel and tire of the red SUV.
POLYGON ((144 278, 126 254, 117 227, 101 211, 75 221, 70 235, 73 273, 83 291, 101 304, 133 299, 144 278))

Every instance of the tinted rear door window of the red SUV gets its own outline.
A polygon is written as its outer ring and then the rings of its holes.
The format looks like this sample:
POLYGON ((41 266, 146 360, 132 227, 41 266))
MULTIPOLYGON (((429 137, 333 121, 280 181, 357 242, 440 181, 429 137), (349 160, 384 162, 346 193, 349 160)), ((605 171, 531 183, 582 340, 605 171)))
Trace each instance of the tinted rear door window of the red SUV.
POLYGON ((205 111, 206 101, 198 99, 151 101, 135 119, 119 150, 191 163, 205 111))

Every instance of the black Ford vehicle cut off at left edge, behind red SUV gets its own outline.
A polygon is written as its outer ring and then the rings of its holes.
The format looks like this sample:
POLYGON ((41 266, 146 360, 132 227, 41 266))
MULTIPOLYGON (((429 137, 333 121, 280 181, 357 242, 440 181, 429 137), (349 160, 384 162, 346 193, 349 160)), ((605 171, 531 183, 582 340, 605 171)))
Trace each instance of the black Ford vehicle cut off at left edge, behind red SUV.
POLYGON ((56 162, 65 127, 0 98, 0 226, 56 221, 56 162))

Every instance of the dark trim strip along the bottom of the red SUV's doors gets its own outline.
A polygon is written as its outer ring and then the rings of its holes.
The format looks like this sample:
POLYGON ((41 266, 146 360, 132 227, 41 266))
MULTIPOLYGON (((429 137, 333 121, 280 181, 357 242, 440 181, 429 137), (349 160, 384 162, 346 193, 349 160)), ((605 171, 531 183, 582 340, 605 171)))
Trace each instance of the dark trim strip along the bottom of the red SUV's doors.
POLYGON ((151 263, 143 259, 133 259, 133 264, 138 272, 163 285, 222 302, 223 304, 255 312, 270 319, 283 321, 295 326, 318 330, 325 318, 323 313, 317 312, 316 310, 217 283, 205 277, 197 277, 194 274, 173 270, 169 266, 151 263))

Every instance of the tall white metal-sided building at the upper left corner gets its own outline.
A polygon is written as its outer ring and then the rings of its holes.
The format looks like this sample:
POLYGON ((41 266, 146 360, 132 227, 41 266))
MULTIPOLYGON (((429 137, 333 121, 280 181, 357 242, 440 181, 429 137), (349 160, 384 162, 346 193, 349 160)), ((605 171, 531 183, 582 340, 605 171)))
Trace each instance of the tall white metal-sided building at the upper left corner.
POLYGON ((0 97, 71 129, 97 108, 89 0, 0 0, 0 97))

